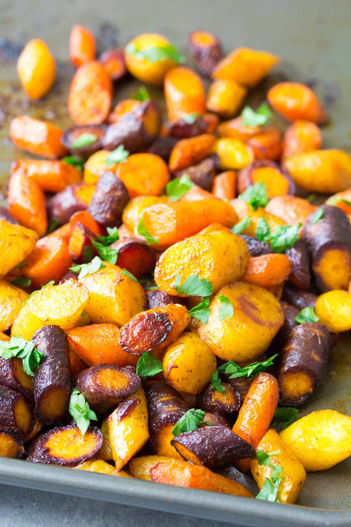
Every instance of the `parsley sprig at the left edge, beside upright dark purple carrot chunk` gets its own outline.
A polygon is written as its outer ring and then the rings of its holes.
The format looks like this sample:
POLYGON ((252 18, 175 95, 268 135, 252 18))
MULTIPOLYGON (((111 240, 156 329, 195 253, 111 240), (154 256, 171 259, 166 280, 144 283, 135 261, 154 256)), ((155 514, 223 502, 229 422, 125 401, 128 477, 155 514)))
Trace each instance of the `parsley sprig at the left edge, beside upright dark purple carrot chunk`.
POLYGON ((37 350, 33 342, 28 342, 21 337, 11 337, 8 341, 0 341, 0 357, 22 359, 24 371, 33 377, 33 370, 39 366, 45 355, 37 350))

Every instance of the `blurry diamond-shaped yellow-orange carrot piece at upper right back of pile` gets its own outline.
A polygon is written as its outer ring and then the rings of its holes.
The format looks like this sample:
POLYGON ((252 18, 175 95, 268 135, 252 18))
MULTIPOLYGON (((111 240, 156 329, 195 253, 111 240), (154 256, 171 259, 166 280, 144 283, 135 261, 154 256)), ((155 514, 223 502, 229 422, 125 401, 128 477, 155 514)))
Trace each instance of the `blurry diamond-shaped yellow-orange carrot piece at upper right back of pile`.
POLYGON ((264 79, 279 60, 279 57, 272 53, 237 47, 218 62, 212 72, 212 77, 236 81, 253 88, 264 79))

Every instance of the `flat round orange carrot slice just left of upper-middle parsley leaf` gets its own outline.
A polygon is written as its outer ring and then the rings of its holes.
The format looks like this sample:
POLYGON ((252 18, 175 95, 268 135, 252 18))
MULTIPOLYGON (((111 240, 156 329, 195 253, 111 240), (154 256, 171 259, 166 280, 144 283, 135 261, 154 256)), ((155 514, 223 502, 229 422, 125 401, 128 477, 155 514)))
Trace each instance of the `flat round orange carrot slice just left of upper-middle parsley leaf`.
POLYGON ((169 181, 164 160, 148 153, 129 155, 117 165, 116 176, 123 181, 131 198, 160 196, 169 181))

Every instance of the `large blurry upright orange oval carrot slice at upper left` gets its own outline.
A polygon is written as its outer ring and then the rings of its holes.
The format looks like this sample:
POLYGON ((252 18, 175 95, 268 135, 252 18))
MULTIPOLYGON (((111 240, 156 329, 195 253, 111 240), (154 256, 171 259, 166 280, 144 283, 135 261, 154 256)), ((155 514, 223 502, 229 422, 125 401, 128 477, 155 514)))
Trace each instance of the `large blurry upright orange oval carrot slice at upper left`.
POLYGON ((87 62, 76 71, 68 95, 68 111, 76 124, 101 124, 112 102, 112 81, 104 66, 87 62))

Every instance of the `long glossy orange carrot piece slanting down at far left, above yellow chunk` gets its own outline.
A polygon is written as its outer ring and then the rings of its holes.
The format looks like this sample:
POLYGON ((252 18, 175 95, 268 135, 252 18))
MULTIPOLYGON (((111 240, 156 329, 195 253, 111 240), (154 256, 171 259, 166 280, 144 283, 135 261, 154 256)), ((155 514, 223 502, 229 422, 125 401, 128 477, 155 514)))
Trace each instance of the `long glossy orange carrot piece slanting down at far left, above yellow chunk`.
POLYGON ((11 174, 8 184, 8 210, 24 227, 44 236, 47 230, 45 196, 37 183, 22 170, 11 174))

